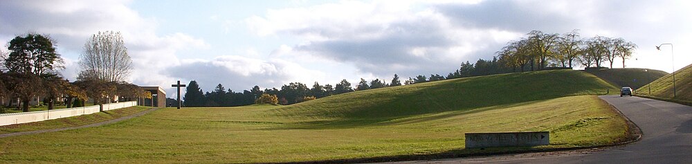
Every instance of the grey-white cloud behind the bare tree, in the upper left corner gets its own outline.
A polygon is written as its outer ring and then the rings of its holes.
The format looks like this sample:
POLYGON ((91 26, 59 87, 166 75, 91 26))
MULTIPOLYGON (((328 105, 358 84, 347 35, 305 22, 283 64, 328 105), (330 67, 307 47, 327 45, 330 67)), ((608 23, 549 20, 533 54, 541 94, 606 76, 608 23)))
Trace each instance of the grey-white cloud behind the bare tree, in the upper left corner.
POLYGON ((144 86, 167 86, 174 79, 163 72, 179 65, 177 52, 210 47, 185 33, 157 35, 156 19, 141 17, 128 5, 129 1, 3 1, 0 38, 30 32, 50 35, 66 61, 62 74, 74 80, 86 39, 98 31, 120 31, 134 62, 130 80, 144 86))

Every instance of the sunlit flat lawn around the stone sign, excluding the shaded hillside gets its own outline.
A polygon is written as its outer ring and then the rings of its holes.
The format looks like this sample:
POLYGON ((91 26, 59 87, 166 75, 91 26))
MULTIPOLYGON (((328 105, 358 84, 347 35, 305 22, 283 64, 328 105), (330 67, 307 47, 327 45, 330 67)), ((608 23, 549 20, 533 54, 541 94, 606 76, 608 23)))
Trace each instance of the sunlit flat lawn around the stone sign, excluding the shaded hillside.
POLYGON ((320 161, 498 150, 464 149, 465 132, 551 131, 551 145, 543 148, 616 143, 627 133, 626 122, 594 95, 420 114, 347 127, 316 126, 314 122, 273 116, 280 108, 167 108, 104 127, 0 138, 0 161, 320 161))

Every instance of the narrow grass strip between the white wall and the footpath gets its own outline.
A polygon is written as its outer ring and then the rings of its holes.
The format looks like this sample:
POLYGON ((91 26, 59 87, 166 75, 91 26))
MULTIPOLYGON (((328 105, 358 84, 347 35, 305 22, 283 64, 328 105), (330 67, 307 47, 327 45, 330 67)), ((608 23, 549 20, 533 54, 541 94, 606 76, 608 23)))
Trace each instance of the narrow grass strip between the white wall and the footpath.
POLYGON ((58 118, 55 120, 45 120, 39 122, 29 122, 17 125, 5 125, 0 126, 0 134, 8 134, 19 131, 34 131, 40 129, 55 129, 60 127, 76 127, 80 125, 88 125, 95 122, 102 122, 106 120, 112 120, 116 118, 121 118, 123 116, 129 116, 140 111, 145 111, 151 107, 127 107, 122 109, 114 109, 110 111, 103 111, 99 113, 92 113, 82 116, 74 116, 69 118, 58 118))

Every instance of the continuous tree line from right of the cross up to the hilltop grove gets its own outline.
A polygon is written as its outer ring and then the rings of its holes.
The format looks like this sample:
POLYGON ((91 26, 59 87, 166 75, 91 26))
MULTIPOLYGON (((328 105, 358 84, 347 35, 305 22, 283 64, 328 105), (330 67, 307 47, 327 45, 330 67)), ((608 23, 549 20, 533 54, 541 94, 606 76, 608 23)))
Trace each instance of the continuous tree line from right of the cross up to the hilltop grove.
POLYGON ((331 84, 320 85, 315 82, 311 88, 307 84, 291 82, 284 84, 280 89, 260 89, 254 86, 250 91, 234 92, 224 89, 218 84, 212 92, 204 93, 199 89, 199 85, 194 80, 188 84, 187 92, 183 98, 185 107, 232 107, 248 104, 295 104, 316 98, 324 98, 330 95, 349 93, 352 91, 363 91, 367 89, 378 89, 388 86, 400 86, 417 84, 421 82, 433 82, 438 80, 448 80, 455 78, 466 78, 480 75, 494 75, 499 73, 513 73, 523 71, 541 71, 547 69, 572 69, 579 62, 585 67, 602 67, 603 62, 608 62, 610 68, 613 67, 614 60, 618 57, 622 60, 623 67, 625 61, 632 56, 632 52, 637 48, 636 44, 627 42, 622 38, 610 38, 596 36, 591 38, 581 38, 579 30, 572 30, 570 33, 543 33, 540 30, 533 30, 516 41, 511 41, 507 46, 502 47, 496 52, 492 60, 479 59, 475 63, 462 62, 459 69, 448 73, 446 76, 439 74, 417 75, 414 78, 401 82, 399 75, 394 74, 390 83, 385 80, 361 81, 352 88, 352 84, 347 80, 341 80, 335 86, 331 84), (263 94, 267 99, 260 99, 263 94))

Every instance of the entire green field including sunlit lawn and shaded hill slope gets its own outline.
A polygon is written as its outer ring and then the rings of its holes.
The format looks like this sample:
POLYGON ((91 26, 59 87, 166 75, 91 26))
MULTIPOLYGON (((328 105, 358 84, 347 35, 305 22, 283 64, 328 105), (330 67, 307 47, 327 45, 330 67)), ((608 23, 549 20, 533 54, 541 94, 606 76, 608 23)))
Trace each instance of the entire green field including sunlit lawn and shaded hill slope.
POLYGON ((8 163, 275 163, 581 147, 627 140, 581 71, 462 78, 290 106, 159 109, 113 125, 0 138, 8 163), (464 149, 466 132, 551 131, 551 145, 464 149))

